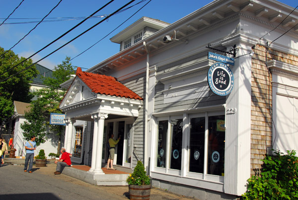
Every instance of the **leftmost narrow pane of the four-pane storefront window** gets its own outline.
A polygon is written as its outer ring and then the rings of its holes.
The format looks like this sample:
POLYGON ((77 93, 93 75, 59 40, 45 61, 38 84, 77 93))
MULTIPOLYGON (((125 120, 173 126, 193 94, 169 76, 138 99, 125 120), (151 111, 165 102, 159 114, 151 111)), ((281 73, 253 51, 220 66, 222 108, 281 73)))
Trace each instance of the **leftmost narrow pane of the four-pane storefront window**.
POLYGON ((168 120, 158 121, 156 167, 165 168, 168 120))

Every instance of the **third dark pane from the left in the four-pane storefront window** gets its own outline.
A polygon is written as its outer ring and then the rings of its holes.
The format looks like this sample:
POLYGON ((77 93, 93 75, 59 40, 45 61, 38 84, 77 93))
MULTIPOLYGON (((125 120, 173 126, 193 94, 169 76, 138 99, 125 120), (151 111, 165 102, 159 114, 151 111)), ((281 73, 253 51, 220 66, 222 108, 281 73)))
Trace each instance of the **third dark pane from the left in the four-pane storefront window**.
POLYGON ((204 172, 205 117, 190 119, 189 171, 204 172))

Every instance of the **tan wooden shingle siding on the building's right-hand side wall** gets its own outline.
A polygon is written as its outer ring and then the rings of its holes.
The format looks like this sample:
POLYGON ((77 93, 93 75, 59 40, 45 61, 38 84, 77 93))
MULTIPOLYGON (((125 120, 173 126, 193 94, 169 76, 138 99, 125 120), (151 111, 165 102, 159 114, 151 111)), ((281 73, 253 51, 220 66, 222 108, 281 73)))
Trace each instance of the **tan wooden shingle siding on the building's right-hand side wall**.
POLYGON ((270 60, 298 65, 298 57, 256 45, 253 49, 251 69, 251 175, 259 174, 267 153, 272 146, 272 75, 266 66, 270 60), (267 55, 267 58, 266 58, 267 55))

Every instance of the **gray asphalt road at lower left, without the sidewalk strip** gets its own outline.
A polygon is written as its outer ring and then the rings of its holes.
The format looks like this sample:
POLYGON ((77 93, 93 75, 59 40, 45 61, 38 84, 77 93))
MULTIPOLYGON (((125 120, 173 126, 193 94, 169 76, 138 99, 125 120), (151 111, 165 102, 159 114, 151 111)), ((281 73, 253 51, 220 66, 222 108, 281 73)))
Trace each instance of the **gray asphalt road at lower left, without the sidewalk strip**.
POLYGON ((54 174, 25 173, 23 168, 14 165, 0 168, 0 200, 127 200, 102 189, 57 179, 54 174))

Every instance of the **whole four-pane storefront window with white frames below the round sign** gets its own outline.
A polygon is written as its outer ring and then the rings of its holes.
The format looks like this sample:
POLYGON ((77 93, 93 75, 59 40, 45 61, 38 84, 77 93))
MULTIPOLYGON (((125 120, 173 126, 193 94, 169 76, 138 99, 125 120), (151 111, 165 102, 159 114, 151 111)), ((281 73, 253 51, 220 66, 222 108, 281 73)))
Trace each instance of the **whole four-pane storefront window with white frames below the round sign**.
POLYGON ((170 173, 176 173, 173 170, 185 170, 187 176, 222 180, 220 177, 207 176, 224 176, 225 118, 219 115, 222 113, 184 114, 185 121, 173 116, 169 116, 169 120, 163 120, 165 117, 157 119, 155 166, 159 168, 156 170, 165 168, 165 172, 170 173))

